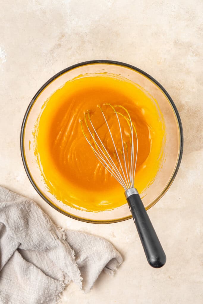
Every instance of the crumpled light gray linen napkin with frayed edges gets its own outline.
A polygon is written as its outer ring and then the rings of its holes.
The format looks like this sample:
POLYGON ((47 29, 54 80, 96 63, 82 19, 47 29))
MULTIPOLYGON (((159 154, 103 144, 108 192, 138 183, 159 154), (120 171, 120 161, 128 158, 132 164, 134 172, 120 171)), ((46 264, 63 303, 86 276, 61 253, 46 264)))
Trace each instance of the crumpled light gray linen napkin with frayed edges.
POLYGON ((89 292, 121 262, 107 240, 56 227, 35 202, 0 186, 0 303, 54 304, 70 281, 89 292))

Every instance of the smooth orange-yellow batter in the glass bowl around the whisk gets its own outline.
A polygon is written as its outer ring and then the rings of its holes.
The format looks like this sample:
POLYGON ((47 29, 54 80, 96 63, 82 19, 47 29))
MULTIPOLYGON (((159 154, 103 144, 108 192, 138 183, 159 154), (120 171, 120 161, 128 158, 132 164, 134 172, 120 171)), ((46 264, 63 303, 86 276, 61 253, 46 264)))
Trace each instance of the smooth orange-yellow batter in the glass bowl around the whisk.
MULTIPOLYGON (((124 189, 100 164, 81 130, 87 110, 101 128, 102 116, 96 109, 105 103, 128 109, 136 127, 135 187, 142 193, 161 164, 164 125, 156 101, 137 85, 106 74, 68 81, 45 102, 33 133, 36 160, 49 191, 63 203, 87 211, 126 203, 124 189)), ((116 127, 114 131, 117 134, 116 127)))

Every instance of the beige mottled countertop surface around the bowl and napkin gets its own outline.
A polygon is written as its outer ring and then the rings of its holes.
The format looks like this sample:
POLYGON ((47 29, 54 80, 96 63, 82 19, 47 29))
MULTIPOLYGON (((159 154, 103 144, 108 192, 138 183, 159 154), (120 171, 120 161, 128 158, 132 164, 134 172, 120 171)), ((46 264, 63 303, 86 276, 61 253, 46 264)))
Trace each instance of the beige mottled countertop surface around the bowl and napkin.
POLYGON ((62 304, 202 303, 203 90, 201 0, 1 1, 0 184, 35 200, 55 223, 110 240, 124 262, 101 274, 83 294, 67 287, 62 304), (184 154, 177 177, 149 210, 167 262, 152 269, 132 220, 81 223, 48 206, 30 184, 20 156, 25 110, 58 71, 92 59, 135 65, 173 98, 183 123, 184 154))

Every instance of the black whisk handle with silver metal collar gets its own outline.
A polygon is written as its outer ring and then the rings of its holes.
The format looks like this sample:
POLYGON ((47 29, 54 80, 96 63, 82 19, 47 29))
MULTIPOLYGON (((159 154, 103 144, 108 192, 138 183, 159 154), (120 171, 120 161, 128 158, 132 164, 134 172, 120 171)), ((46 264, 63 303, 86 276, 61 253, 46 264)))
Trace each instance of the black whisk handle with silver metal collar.
POLYGON ((154 268, 162 267, 166 263, 166 255, 139 194, 128 196, 127 202, 138 230, 148 263, 154 268))

